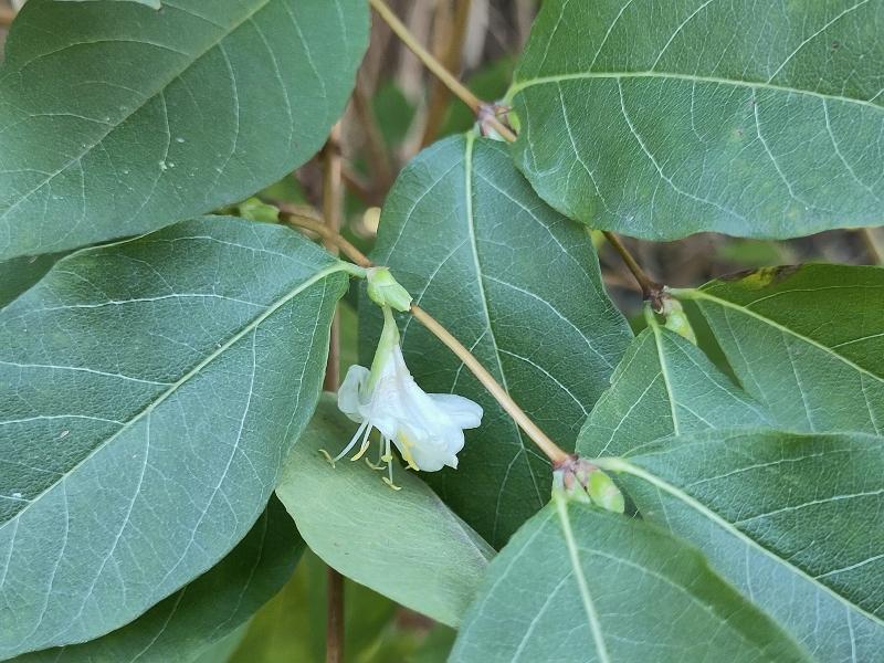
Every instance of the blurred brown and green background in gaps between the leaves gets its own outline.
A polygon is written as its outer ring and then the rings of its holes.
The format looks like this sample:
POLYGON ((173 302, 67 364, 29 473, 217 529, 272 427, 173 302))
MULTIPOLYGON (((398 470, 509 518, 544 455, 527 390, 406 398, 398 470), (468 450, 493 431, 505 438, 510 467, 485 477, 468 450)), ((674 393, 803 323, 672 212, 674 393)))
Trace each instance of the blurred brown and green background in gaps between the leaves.
MULTIPOLYGON (((23 2, 0 0, 0 44, 23 2)), ((538 0, 390 0, 411 32, 484 101, 503 97, 515 60, 530 31, 538 0)), ((362 251, 371 249, 380 207, 400 169, 422 147, 465 131, 474 118, 390 33, 373 21, 371 43, 356 92, 340 122, 337 145, 346 187, 344 234, 362 251)), ((0 146, 2 149, 2 146, 0 146)), ((318 215, 322 169, 314 159, 259 198, 284 210, 318 215)), ((249 215, 248 206, 227 211, 249 215)), ((641 325, 641 295, 619 256, 593 234, 609 290, 627 316, 641 325)), ((673 286, 697 285, 730 272, 801 262, 876 264, 884 260, 882 231, 834 231, 788 242, 740 240, 716 234, 650 243, 624 238, 645 271, 673 286)), ((341 307, 343 370, 356 361, 352 293, 341 307)), ((690 313, 690 312, 688 312, 690 313)), ((701 345, 716 348, 694 320, 701 345)), ((723 365, 727 370, 727 367, 723 365)), ((203 663, 312 663, 325 660, 326 570, 309 551, 285 589, 255 619, 203 663)), ((346 582, 348 662, 434 663, 444 661, 451 629, 434 624, 366 588, 346 582)))

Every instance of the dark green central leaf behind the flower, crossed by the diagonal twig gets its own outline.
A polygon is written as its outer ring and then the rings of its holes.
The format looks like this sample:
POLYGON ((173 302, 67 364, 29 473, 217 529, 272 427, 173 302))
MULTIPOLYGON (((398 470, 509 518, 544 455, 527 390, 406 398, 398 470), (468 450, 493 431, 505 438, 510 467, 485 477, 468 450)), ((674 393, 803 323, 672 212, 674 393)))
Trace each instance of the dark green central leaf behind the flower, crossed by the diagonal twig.
MULTIPOLYGON (((372 259, 391 267, 547 434, 573 448, 631 333, 601 285, 589 235, 535 196, 504 146, 455 136, 421 152, 387 199, 372 259)), ((370 360, 376 306, 361 306, 361 323, 370 360)), ((460 393, 485 410, 481 428, 466 432, 460 467, 427 482, 499 547, 546 504, 549 463, 420 324, 406 318, 401 333, 423 389, 460 393)))

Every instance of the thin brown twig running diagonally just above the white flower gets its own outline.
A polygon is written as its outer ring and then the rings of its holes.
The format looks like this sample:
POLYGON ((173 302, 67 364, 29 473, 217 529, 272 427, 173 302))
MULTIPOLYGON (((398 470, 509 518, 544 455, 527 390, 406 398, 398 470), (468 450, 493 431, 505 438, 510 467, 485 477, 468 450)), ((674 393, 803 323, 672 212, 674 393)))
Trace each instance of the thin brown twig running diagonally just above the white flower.
MULTIPOLYGON (((303 217, 299 214, 283 214, 283 219, 295 228, 306 229, 320 235, 327 242, 337 244, 340 252, 349 257, 360 267, 373 267, 375 264, 368 260, 361 251, 354 246, 340 234, 333 232, 322 221, 303 217)), ((478 362, 473 354, 467 350, 464 345, 454 338, 451 333, 445 329, 435 318, 417 304, 411 305, 411 315, 421 323, 427 329, 441 340, 454 355, 463 361, 464 366, 471 370, 476 379, 482 382, 482 386, 488 390, 494 399, 501 403, 501 407, 513 418, 513 420, 525 431, 528 438, 543 451, 550 460, 554 466, 559 466, 568 462, 572 456, 567 451, 562 450, 558 444, 552 442, 540 428, 534 423, 525 411, 518 407, 516 401, 506 392, 497 380, 494 379, 485 367, 478 362)))

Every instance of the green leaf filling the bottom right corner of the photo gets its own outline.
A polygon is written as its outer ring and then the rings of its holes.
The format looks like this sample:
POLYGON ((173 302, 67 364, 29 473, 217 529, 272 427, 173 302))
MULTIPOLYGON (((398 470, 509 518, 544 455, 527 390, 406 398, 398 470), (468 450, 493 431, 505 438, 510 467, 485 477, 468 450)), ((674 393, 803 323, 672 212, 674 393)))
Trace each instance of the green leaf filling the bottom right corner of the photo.
POLYGON ((818 661, 881 657, 884 439, 719 431, 603 466, 818 661))

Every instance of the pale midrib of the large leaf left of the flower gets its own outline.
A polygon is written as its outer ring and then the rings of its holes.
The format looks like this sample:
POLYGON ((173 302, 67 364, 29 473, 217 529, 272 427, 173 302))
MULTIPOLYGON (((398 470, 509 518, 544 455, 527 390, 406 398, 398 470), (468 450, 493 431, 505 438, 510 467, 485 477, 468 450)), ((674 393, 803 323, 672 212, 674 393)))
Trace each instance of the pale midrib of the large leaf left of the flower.
POLYGON ((319 282, 319 281, 322 281, 323 278, 326 278, 327 276, 330 276, 332 274, 334 274, 334 273, 336 273, 336 272, 345 272, 345 271, 346 271, 346 269, 347 269, 347 267, 346 267, 346 265, 344 265, 344 264, 341 264, 341 263, 339 263, 339 262, 338 262, 338 263, 336 263, 336 264, 332 264, 332 265, 329 265, 329 266, 327 266, 327 267, 325 267, 325 269, 323 269, 323 270, 320 270, 320 271, 316 272, 316 273, 315 273, 313 276, 311 276, 311 277, 309 277, 309 278, 307 278, 306 281, 303 281, 303 282, 301 282, 301 283, 299 283, 299 284, 298 284, 298 285, 297 285, 297 286, 296 286, 294 290, 290 291, 290 292, 288 292, 288 293, 286 293, 286 294, 285 294, 283 297, 281 297, 280 299, 277 299, 276 302, 274 302, 273 304, 271 304, 270 306, 267 306, 267 308, 266 308, 266 311, 264 311, 264 313, 262 313, 261 315, 259 315, 259 316, 256 316, 255 318, 253 318, 253 319, 252 319, 252 322, 250 322, 248 325, 243 326, 243 327, 242 327, 242 328, 241 328, 239 332, 236 332, 236 333, 235 333, 233 336, 231 336, 231 337, 230 337, 230 339, 228 339, 228 340, 227 340, 224 344, 222 344, 220 347, 217 347, 217 348, 215 348, 215 349, 214 349, 212 352, 210 352, 210 354, 209 354, 208 356, 206 356, 206 357, 204 357, 204 358, 203 358, 201 361, 199 361, 199 362, 198 362, 198 364, 197 364, 197 365, 196 365, 193 368, 191 368, 191 369, 190 369, 188 372, 186 372, 183 376, 181 376, 181 378, 179 378, 177 381, 172 382, 172 383, 169 386, 169 388, 168 388, 168 389, 166 389, 165 391, 162 391, 162 392, 161 392, 159 396, 157 396, 155 399, 152 399, 151 401, 149 401, 149 402, 148 402, 148 404, 147 404, 147 406, 145 406, 145 407, 144 407, 141 410, 139 410, 137 413, 135 413, 133 417, 130 417, 130 418, 129 418, 129 419, 128 419, 128 420, 127 420, 127 421, 126 421, 126 422, 125 422, 125 423, 124 423, 124 424, 123 424, 123 425, 122 425, 122 427, 120 427, 118 430, 116 430, 116 431, 115 431, 115 432, 114 432, 114 433, 113 433, 110 436, 108 436, 107 439, 105 439, 105 440, 103 440, 103 441, 99 441, 99 442, 98 442, 98 443, 95 445, 95 448, 94 448, 92 451, 90 451, 90 453, 88 453, 87 455, 85 455, 85 456, 84 456, 84 457, 83 457, 81 461, 78 461, 78 462, 77 462, 75 465, 73 465, 73 466, 72 466, 70 470, 67 470, 66 472, 64 472, 63 474, 61 474, 61 475, 60 475, 60 476, 56 478, 56 481, 54 481, 54 482, 53 482, 52 484, 50 484, 50 485, 49 485, 49 486, 48 486, 48 487, 46 487, 46 488, 45 488, 43 492, 41 492, 41 493, 40 493, 40 494, 38 494, 38 495, 36 495, 36 496, 33 498, 33 499, 31 499, 31 502, 29 502, 29 503, 28 503, 28 504, 27 504, 27 505, 25 505, 25 506, 24 506, 24 507, 23 507, 21 511, 17 512, 17 513, 15 513, 15 514, 14 514, 14 515, 13 515, 13 516, 12 516, 12 517, 9 519, 9 520, 7 520, 6 523, 2 523, 2 524, 0 524, 0 532, 2 532, 3 529, 6 529, 6 527, 7 527, 7 526, 8 526, 10 523, 13 523, 13 522, 14 522, 14 523, 18 523, 18 522, 19 522, 19 519, 20 519, 20 517, 21 517, 21 516, 22 516, 24 513, 27 513, 27 512, 28 512, 28 509, 30 509, 30 508, 31 508, 31 506, 33 506, 34 504, 38 504, 38 503, 41 501, 41 498, 42 498, 44 495, 46 495, 46 494, 48 494, 48 493, 50 493, 51 491, 55 490, 55 487, 56 487, 56 486, 59 486, 61 483, 63 483, 63 482, 67 481, 67 477, 69 477, 69 476, 73 475, 73 474, 74 474, 74 473, 75 473, 77 470, 80 470, 80 467, 82 467, 83 465, 85 465, 86 463, 88 463, 88 462, 92 460, 92 457, 93 457, 93 456, 95 456, 95 455, 96 455, 97 453, 99 453, 102 450, 106 449, 108 444, 110 444, 110 443, 112 443, 114 440, 116 440, 116 439, 117 439, 119 435, 122 435, 124 432, 126 432, 127 430, 129 430, 129 429, 130 429, 130 428, 131 428, 131 427, 133 427, 135 423, 137 423, 137 422, 138 422, 138 421, 140 421, 143 418, 145 418, 145 417, 147 417, 148 414, 150 414, 150 413, 151 413, 154 410, 156 410, 156 409, 157 409, 157 408, 158 408, 158 407, 159 407, 159 406, 160 406, 162 402, 165 402, 166 400, 168 400, 168 399, 169 399, 171 396, 173 396, 173 394, 175 394, 175 393, 176 393, 176 392, 177 392, 177 391, 178 391, 178 390, 179 390, 181 387, 183 387, 183 386, 185 386, 187 382, 189 382, 189 381, 191 380, 191 378, 194 378, 196 376, 198 376, 198 375, 199 375, 199 373, 202 371, 202 369, 204 369, 207 366, 209 366, 210 364, 212 364, 212 362, 213 362, 215 359, 218 359, 219 357, 221 357, 221 356, 222 356, 222 355, 223 355, 223 354, 224 354, 227 350, 229 350, 229 349, 230 349, 230 348, 231 348, 233 345, 235 345, 235 344, 236 344, 238 341, 240 341, 242 338, 244 338, 245 336, 248 336, 250 333, 252 333, 252 332, 254 332, 255 329, 257 329, 257 327, 259 327, 259 326, 261 326, 261 324, 262 324, 264 320, 266 320, 266 319, 267 319, 270 316, 272 316, 274 313, 276 313, 276 312, 277 312, 280 308, 282 308, 283 306, 285 306, 285 305, 286 305, 288 302, 291 302, 292 299, 294 299, 294 298, 295 298, 297 295, 299 295, 301 293, 303 293, 303 292, 304 292, 305 290, 307 290, 309 286, 314 285, 315 283, 318 283, 318 282, 319 282))

